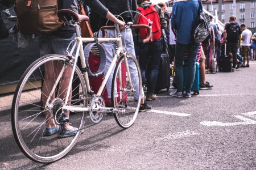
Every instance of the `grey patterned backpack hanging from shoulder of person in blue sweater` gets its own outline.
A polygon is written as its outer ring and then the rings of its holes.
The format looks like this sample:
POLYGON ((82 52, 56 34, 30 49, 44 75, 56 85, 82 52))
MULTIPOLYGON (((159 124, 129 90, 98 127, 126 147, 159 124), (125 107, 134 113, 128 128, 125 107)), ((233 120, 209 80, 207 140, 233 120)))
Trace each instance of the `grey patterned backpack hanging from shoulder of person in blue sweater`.
POLYGON ((204 41, 209 35, 210 16, 203 11, 203 5, 199 2, 199 18, 196 21, 196 27, 193 32, 193 39, 195 42, 204 41))

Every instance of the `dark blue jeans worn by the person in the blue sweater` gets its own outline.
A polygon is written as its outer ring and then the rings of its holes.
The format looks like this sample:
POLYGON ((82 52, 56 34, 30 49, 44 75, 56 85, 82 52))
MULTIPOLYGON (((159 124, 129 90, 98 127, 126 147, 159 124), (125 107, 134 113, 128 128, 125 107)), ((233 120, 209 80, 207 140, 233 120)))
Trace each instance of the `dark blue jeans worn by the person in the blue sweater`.
POLYGON ((183 91, 183 61, 186 50, 188 50, 188 83, 187 86, 185 87, 185 91, 191 92, 191 88, 195 79, 196 58, 199 45, 199 42, 191 42, 190 44, 179 44, 179 42, 176 42, 175 75, 177 80, 177 92, 183 91))

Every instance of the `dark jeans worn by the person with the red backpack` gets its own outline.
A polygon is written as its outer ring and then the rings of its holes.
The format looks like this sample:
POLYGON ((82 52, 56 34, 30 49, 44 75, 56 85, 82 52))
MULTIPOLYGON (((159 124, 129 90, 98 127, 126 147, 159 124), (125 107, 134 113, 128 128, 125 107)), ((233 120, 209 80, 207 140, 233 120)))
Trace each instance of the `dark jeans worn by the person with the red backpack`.
POLYGON ((160 40, 139 44, 139 67, 141 67, 142 81, 146 80, 147 70, 147 95, 155 91, 158 79, 158 67, 162 53, 162 42, 160 40))

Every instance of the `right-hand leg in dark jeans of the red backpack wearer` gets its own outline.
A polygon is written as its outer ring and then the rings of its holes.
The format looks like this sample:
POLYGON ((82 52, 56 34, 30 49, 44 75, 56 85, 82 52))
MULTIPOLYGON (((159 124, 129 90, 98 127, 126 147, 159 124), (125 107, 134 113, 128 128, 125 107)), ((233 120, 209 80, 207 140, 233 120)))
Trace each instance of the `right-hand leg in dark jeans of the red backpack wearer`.
POLYGON ((155 41, 150 43, 150 61, 148 63, 147 76, 147 97, 152 96, 155 91, 156 80, 158 79, 158 70, 160 57, 162 53, 162 42, 155 41))

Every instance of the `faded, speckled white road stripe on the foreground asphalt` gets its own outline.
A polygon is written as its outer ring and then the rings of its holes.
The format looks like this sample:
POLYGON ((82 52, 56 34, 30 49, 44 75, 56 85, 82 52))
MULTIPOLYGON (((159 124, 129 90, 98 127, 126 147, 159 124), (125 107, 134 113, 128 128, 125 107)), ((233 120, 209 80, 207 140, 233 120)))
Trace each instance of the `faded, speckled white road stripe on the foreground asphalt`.
POLYGON ((198 133, 196 133, 195 131, 192 130, 186 130, 186 131, 180 131, 174 134, 168 134, 164 137, 159 137, 156 138, 155 141, 157 142, 162 142, 162 141, 169 141, 172 139, 180 139, 180 138, 184 138, 184 137, 190 137, 192 135, 197 135, 198 133))

